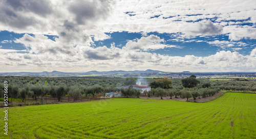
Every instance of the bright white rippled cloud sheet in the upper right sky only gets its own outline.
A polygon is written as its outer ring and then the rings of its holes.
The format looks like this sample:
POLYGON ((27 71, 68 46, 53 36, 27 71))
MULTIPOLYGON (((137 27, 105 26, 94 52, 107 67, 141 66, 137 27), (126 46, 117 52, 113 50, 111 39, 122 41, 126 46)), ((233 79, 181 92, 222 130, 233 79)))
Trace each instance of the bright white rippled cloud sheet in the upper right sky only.
POLYGON ((255 24, 256 15, 253 4, 256 3, 232 1, 226 6, 224 1, 218 0, 203 4, 200 1, 173 1, 172 3, 169 1, 159 3, 120 1, 116 4, 118 8, 113 10, 113 14, 106 21, 108 24, 104 27, 111 28, 111 31, 182 32, 187 36, 219 35, 223 33, 222 26, 229 26, 228 20, 246 20, 241 24, 245 22, 255 24), (156 15, 159 17, 154 17, 156 15))

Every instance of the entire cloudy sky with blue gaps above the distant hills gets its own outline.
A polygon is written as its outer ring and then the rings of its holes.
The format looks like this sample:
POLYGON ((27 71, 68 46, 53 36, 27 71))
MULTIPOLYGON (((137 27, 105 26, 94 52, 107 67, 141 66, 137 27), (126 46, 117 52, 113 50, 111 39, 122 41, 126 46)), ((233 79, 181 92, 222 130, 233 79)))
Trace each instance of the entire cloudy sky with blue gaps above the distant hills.
POLYGON ((256 72, 256 1, 0 1, 0 73, 256 72))

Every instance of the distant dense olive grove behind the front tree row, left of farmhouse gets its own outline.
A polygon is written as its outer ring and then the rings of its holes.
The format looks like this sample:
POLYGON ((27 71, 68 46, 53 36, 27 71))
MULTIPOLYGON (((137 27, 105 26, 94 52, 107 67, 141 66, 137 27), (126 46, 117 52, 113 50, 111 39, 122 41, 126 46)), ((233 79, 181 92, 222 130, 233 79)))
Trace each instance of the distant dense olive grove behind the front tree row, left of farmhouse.
MULTIPOLYGON (((124 78, 108 78, 108 77, 18 77, 18 76, 0 76, 0 87, 3 82, 8 81, 8 84, 17 85, 18 88, 23 88, 26 85, 50 85, 60 86, 65 84, 67 87, 71 86, 86 86, 100 85, 105 88, 123 86, 124 78)), ((0 90, 1 92, 1 90, 0 90)))

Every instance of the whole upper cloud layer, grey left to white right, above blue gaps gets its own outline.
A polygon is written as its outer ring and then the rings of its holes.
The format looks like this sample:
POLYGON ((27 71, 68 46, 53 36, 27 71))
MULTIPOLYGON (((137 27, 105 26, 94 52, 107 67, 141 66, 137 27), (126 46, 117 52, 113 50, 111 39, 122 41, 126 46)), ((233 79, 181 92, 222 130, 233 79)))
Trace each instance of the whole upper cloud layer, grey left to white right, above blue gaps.
POLYGON ((256 22, 255 1, 1 1, 0 30, 60 36, 62 41, 83 44, 110 38, 106 32, 159 32, 187 35, 230 33, 230 39, 254 38, 248 27, 237 23, 256 22), (186 6, 184 6, 186 5, 186 6), (44 7, 44 8, 41 8, 44 7), (155 17, 158 16, 158 17, 155 17), (214 19, 212 22, 209 19, 214 19), (200 21, 201 20, 201 21, 200 21), (190 21, 190 22, 187 22, 190 21), (222 30, 222 26, 223 30, 222 30), (240 31, 241 30, 241 33, 240 31), (223 32, 222 32, 223 31, 223 32), (242 33, 247 32, 247 33, 242 33), (63 39, 62 39, 63 38, 63 39))

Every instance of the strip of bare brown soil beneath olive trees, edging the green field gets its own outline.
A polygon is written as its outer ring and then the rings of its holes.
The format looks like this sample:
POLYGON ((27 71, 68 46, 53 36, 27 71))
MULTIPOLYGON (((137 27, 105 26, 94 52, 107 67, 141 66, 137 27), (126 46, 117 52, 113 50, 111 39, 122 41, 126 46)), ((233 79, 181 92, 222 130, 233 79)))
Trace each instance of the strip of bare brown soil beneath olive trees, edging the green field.
MULTIPOLYGON (((207 101, 211 101, 211 100, 214 100, 220 96, 222 96, 224 94, 224 92, 218 92, 216 93, 214 96, 208 96, 208 97, 205 97, 205 98, 202 98, 200 97, 200 99, 197 97, 196 100, 194 100, 193 98, 190 98, 188 99, 189 102, 207 102, 207 101)), ((182 99, 180 98, 180 96, 177 96, 178 98, 175 98, 175 97, 172 97, 172 99, 170 99, 169 96, 166 96, 166 97, 163 97, 163 100, 175 100, 175 101, 187 101, 187 99, 182 99)), ((143 98, 143 99, 147 99, 148 96, 140 96, 140 98, 143 98)), ((160 97, 155 97, 155 96, 151 96, 149 99, 157 99, 157 100, 160 100, 161 98, 160 97)))

